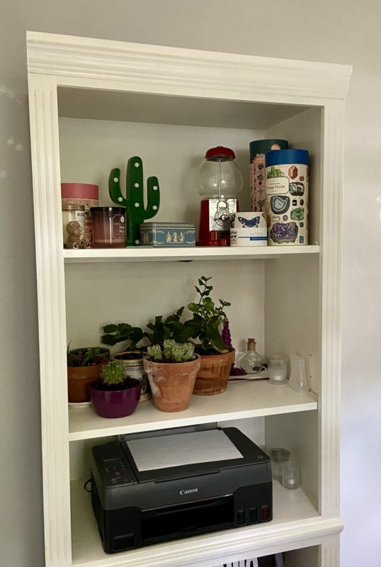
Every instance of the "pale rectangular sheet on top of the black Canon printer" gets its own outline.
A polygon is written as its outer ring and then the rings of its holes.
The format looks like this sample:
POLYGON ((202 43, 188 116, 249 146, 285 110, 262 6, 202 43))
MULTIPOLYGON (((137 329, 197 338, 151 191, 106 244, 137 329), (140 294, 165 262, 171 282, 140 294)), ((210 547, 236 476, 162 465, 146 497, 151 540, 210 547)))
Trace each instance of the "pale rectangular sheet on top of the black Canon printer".
POLYGON ((153 468, 243 459, 243 456, 220 430, 178 433, 127 441, 138 471, 153 468))

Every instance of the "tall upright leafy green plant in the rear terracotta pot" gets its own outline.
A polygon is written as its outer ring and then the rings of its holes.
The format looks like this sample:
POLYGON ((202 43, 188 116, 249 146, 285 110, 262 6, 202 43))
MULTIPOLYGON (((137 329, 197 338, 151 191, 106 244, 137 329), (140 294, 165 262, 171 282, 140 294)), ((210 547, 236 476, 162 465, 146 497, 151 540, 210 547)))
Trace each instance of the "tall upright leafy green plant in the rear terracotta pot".
POLYGON ((212 278, 201 276, 195 290, 200 298, 198 303, 188 303, 188 309, 193 313, 193 318, 186 321, 183 326, 183 339, 198 338, 200 340, 200 351, 203 354, 215 354, 227 352, 226 344, 222 340, 219 327, 226 313, 225 307, 230 303, 219 299, 220 305, 216 305, 210 297, 213 287, 208 283, 212 278))

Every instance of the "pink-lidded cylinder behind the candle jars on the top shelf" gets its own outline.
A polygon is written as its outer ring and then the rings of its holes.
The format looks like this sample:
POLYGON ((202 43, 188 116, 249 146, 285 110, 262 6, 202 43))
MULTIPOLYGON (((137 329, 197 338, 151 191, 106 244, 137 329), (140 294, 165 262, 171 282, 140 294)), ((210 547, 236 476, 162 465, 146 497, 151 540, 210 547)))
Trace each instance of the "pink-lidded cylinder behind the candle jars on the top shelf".
POLYGON ((91 207, 99 204, 99 187, 90 183, 62 183, 62 205, 84 205, 85 225, 84 238, 93 246, 93 223, 91 220, 91 207))

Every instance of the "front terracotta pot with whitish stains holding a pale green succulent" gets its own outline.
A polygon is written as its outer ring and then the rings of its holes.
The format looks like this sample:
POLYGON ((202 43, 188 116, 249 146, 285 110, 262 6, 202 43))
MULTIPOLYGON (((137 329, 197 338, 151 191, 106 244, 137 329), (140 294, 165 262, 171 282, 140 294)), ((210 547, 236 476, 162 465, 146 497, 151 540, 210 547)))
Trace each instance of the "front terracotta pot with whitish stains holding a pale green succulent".
POLYGON ((154 362, 144 357, 154 403, 162 412, 181 412, 189 408, 200 357, 186 362, 154 362))

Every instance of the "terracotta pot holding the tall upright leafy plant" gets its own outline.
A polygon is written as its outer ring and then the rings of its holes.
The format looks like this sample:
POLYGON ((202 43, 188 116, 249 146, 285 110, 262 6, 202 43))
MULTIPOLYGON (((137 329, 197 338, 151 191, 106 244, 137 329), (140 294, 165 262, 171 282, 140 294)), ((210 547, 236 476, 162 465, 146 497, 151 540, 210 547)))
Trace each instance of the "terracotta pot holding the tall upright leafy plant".
POLYGON ((235 350, 230 349, 224 354, 201 355, 200 370, 195 380, 194 394, 214 395, 224 392, 227 388, 230 369, 234 363, 235 350))

